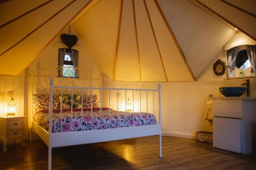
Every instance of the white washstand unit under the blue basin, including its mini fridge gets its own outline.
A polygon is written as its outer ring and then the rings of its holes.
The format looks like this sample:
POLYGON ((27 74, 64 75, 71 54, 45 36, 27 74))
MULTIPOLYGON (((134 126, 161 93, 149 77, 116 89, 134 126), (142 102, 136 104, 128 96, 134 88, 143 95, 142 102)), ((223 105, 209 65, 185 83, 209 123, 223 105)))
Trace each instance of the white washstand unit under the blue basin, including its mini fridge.
POLYGON ((256 98, 213 98, 212 146, 248 154, 256 150, 256 98))

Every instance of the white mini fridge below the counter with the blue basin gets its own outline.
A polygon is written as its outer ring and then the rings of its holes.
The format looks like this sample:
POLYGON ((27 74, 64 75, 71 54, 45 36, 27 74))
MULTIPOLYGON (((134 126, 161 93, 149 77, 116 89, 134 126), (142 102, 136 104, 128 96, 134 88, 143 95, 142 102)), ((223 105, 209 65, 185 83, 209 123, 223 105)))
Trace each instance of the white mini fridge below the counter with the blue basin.
POLYGON ((242 119, 214 117, 212 147, 243 153, 242 119))

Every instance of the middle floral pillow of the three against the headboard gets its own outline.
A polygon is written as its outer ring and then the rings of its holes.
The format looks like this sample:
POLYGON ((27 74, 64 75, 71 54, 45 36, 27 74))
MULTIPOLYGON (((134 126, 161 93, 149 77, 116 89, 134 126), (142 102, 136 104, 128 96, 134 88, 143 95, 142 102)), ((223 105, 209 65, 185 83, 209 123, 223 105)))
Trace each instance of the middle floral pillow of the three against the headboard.
MULTIPOLYGON (((59 100, 61 101, 60 104, 62 105, 62 109, 71 109, 72 95, 62 94, 62 99, 61 95, 59 95, 59 100)), ((81 107, 81 95, 73 94, 73 109, 81 109, 81 107)))

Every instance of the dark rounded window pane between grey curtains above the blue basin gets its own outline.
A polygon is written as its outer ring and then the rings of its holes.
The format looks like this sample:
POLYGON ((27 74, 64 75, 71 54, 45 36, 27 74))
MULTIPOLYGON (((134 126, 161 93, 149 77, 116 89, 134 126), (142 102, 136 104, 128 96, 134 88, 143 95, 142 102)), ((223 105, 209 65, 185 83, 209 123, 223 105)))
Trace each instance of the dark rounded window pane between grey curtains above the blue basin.
POLYGON ((239 69, 247 69, 251 67, 251 63, 247 55, 247 50, 238 51, 237 59, 234 65, 239 69))

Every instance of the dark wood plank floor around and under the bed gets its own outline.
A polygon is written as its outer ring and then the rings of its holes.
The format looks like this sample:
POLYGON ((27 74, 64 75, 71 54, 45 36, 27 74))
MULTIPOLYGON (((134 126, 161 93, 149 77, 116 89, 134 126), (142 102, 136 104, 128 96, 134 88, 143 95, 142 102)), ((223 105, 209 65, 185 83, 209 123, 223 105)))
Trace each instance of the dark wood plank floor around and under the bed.
MULTIPOLYGON (((83 144, 53 149, 53 169, 256 169, 256 157, 211 147, 193 139, 158 137, 83 144)), ((0 169, 47 169, 48 148, 42 141, 10 145, 0 151, 0 169)))

